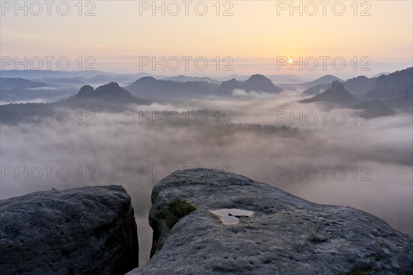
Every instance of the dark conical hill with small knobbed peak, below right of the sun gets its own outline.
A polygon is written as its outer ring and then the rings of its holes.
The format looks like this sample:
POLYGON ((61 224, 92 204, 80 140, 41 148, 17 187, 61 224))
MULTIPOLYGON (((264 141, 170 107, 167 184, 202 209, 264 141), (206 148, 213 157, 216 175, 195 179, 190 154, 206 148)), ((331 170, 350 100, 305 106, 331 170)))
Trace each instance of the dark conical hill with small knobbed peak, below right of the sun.
POLYGON ((333 81, 331 87, 321 94, 317 94, 316 96, 313 96, 313 98, 306 98, 300 102, 309 103, 316 101, 330 102, 341 105, 354 104, 357 102, 356 97, 344 89, 343 83, 337 80, 333 81))

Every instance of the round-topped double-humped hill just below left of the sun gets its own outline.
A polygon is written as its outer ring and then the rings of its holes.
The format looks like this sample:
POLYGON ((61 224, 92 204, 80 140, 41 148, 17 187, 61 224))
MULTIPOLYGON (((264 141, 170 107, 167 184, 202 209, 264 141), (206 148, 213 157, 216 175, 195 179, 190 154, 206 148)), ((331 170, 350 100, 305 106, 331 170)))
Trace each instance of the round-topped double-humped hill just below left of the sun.
POLYGON ((245 81, 239 81, 235 78, 224 81, 220 85, 220 94, 231 94, 231 91, 234 89, 242 89, 244 91, 264 91, 276 94, 282 91, 282 89, 275 86, 270 79, 261 74, 254 74, 245 81))

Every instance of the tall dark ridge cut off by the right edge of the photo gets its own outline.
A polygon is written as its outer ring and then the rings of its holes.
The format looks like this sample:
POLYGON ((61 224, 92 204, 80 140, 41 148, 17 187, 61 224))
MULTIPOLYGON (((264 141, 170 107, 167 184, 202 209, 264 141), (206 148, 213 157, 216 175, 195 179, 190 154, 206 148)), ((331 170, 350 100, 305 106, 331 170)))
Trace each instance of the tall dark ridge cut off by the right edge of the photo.
POLYGON ((374 87, 368 91, 368 98, 404 98, 412 100, 413 97, 413 67, 396 71, 387 76, 377 78, 374 87))

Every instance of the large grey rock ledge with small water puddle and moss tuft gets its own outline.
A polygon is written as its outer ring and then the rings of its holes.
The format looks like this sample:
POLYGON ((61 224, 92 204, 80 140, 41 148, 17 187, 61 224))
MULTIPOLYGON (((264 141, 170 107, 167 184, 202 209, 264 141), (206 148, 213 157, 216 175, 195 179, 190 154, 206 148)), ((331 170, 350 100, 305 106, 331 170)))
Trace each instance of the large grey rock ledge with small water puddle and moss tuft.
POLYGON ((153 188, 152 259, 136 274, 410 274, 412 236, 361 210, 311 203, 233 173, 178 170, 153 188), (165 223, 169 201, 198 208, 165 223), (253 211, 224 225, 209 210, 253 211), (357 273, 358 272, 358 273, 357 273), (363 273, 365 272, 365 273, 363 273))

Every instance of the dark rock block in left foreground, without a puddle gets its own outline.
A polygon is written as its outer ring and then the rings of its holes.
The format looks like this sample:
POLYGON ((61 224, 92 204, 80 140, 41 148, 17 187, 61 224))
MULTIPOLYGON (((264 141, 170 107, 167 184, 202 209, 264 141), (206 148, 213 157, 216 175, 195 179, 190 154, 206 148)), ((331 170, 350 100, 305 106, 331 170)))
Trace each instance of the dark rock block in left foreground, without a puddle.
POLYGON ((122 186, 34 192, 0 201, 0 274, 125 274, 138 267, 122 186))

